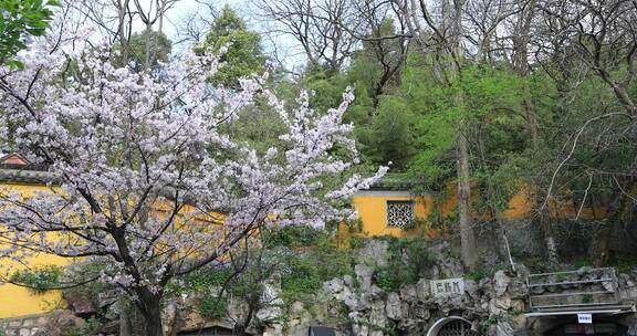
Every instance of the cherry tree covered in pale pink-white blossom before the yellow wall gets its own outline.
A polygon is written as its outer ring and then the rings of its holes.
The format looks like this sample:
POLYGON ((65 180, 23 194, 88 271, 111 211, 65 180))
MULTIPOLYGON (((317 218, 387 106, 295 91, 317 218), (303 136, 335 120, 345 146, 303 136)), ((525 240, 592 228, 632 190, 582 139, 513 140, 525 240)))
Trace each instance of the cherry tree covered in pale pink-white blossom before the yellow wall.
POLYGON ((263 78, 211 87, 219 64, 210 56, 142 73, 116 67, 111 49, 88 46, 87 35, 58 19, 18 55, 23 70, 0 67, 0 111, 10 112, 0 136, 50 176, 46 192, 0 190, 0 258, 101 262, 96 281, 133 300, 145 335, 161 335, 171 281, 223 260, 264 225, 320 228, 351 216, 335 204, 387 170, 351 172, 357 154, 342 117, 352 91, 318 115, 307 93, 289 104, 263 78), (286 126, 267 151, 221 130, 258 97, 286 126), (326 190, 330 177, 342 187, 326 190))

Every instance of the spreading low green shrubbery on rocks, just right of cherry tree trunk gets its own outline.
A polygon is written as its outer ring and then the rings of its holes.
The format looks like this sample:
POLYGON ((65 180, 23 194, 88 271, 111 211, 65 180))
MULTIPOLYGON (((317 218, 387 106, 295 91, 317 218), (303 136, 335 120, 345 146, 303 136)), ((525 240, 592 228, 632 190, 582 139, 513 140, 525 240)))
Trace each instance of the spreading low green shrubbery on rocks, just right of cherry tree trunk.
POLYGON ((263 281, 273 274, 281 276, 285 304, 307 302, 323 286, 323 282, 354 273, 354 258, 348 250, 338 249, 328 234, 313 229, 280 228, 264 232, 269 249, 237 252, 224 266, 202 267, 170 284, 168 293, 203 293, 200 312, 208 318, 227 314, 228 300, 209 295, 223 286, 223 296, 253 301, 263 292, 263 281), (311 231, 309 231, 311 230, 311 231), (302 232, 300 239, 293 235, 302 232), (301 252, 294 248, 304 245, 301 252), (248 258, 246 254, 249 253, 248 258), (248 260, 248 265, 242 262, 248 260))

